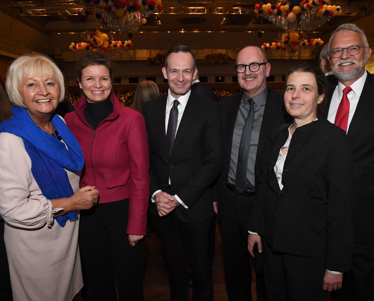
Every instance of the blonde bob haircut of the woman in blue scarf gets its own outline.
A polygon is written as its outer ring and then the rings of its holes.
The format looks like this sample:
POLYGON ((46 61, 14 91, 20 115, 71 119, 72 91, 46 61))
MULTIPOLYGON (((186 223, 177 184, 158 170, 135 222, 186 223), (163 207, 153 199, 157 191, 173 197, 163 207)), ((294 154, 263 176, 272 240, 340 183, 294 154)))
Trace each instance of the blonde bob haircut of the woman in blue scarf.
POLYGON ((22 84, 22 79, 40 77, 41 75, 47 75, 51 78, 53 75, 56 76, 60 90, 59 101, 62 102, 65 97, 64 75, 62 75, 61 70, 52 59, 41 54, 34 56, 30 54, 22 55, 9 66, 5 86, 10 102, 15 106, 26 108, 18 91, 22 84))

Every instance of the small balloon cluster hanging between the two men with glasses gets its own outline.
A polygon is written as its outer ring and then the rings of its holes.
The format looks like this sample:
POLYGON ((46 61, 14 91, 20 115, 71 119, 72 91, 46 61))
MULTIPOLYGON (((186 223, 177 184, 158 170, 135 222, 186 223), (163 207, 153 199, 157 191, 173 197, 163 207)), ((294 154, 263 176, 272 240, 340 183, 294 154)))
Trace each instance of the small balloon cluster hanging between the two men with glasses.
POLYGON ((320 38, 313 38, 313 39, 300 39, 299 34, 297 32, 289 32, 282 35, 281 40, 272 42, 272 43, 264 43, 262 44, 261 48, 264 50, 269 49, 280 49, 286 50, 291 49, 291 53, 297 51, 298 48, 306 48, 306 47, 313 47, 323 45, 324 41, 320 38))

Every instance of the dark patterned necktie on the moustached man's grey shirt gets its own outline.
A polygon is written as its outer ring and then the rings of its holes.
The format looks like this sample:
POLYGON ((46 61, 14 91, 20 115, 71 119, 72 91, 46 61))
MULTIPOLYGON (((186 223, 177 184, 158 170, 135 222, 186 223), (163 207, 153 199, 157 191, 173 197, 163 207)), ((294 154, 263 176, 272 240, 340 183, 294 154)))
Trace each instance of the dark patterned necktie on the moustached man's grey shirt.
POLYGON ((254 120, 253 99, 249 98, 249 112, 244 123, 242 137, 240 138, 239 154, 237 157, 235 189, 240 194, 246 189, 249 142, 251 141, 252 125, 254 120))

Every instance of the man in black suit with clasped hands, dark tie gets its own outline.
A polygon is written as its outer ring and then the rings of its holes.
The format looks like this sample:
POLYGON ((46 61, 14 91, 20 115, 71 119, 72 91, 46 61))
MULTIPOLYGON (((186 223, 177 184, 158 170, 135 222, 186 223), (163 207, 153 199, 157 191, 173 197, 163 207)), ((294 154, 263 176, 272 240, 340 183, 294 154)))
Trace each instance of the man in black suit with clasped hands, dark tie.
POLYGON ((222 126, 215 102, 191 91, 196 60, 188 46, 169 49, 162 68, 168 94, 144 104, 150 152, 150 214, 169 273, 171 300, 213 300, 208 236, 211 184, 222 168, 222 126), (175 138, 175 139, 174 139, 175 138))

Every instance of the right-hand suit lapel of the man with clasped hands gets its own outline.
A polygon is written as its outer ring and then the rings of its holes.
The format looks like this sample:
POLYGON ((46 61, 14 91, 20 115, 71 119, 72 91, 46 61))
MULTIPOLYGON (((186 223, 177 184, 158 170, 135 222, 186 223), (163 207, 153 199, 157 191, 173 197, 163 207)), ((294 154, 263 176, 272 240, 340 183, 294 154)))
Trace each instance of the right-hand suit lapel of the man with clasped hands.
MULTIPOLYGON (((177 134, 175 135, 174 145, 171 151, 171 157, 174 155, 175 150, 177 149, 184 134, 186 133, 188 126, 191 124, 191 121, 193 120, 193 117, 196 114, 196 111, 199 108, 199 106, 200 106, 200 101, 198 97, 196 96, 195 93, 191 91, 190 97, 188 97, 186 108, 184 109, 184 112, 183 112, 181 122, 178 126, 177 134)), ((165 121, 164 121, 164 127, 165 127, 165 121)), ((164 131, 165 131, 165 128, 164 128, 164 131)), ((166 142, 165 142, 165 146, 166 146, 166 142)))

